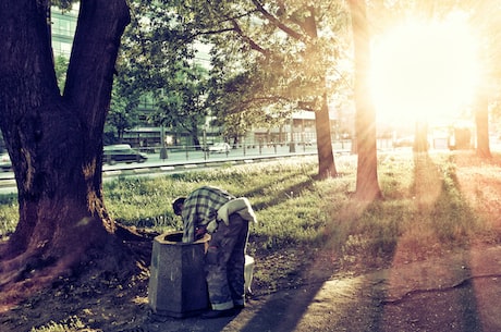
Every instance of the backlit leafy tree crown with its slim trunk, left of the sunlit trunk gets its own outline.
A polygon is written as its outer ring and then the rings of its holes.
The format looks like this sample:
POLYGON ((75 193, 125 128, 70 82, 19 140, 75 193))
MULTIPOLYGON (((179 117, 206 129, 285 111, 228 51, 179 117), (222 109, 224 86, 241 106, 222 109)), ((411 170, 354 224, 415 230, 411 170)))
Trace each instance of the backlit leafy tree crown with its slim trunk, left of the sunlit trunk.
MULTIPOLYGON (((212 112, 229 122, 229 127, 237 128, 245 123, 258 125, 266 119, 279 119, 273 112, 281 115, 294 110, 314 111, 319 118, 319 174, 335 175, 328 104, 337 86, 346 83, 346 69, 338 64, 349 45, 349 15, 342 3, 174 1, 160 7, 167 13, 163 16, 151 14, 147 20, 137 20, 136 27, 144 27, 144 36, 152 38, 144 39, 143 33, 136 34, 136 39, 130 38, 140 46, 135 47, 136 51, 142 50, 134 57, 140 61, 134 67, 149 65, 160 72, 169 69, 166 54, 175 54, 169 57, 174 62, 173 59, 188 61, 195 54, 186 45, 198 41, 213 46, 212 112), (145 56, 152 50, 155 54, 145 56), (235 88, 244 82, 252 84, 235 88), (225 94, 227 88, 232 89, 231 95, 225 94)), ((155 13, 158 7, 140 2, 135 9, 155 13)), ((156 77, 147 78, 161 82, 156 77)))

